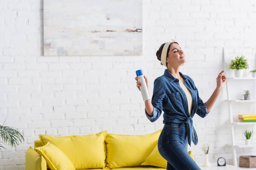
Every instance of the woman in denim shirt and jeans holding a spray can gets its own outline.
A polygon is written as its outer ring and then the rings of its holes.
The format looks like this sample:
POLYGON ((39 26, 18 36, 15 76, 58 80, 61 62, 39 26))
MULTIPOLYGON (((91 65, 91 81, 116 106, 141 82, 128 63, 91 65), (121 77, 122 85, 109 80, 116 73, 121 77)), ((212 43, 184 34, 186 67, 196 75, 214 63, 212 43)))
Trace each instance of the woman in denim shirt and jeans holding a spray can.
MULTIPOLYGON (((164 112, 164 126, 157 143, 159 153, 167 160, 167 170, 201 170, 187 152, 191 141, 198 144, 192 118, 195 113, 204 118, 210 112, 226 80, 222 75, 224 71, 218 74, 212 96, 203 102, 192 78, 179 71, 186 60, 177 42, 163 43, 157 51, 157 59, 167 69, 154 80, 152 101, 145 101, 145 114, 154 122, 164 112)), ((148 88, 148 79, 144 78, 148 88)), ((135 77, 140 90, 142 83, 138 79, 135 77)))

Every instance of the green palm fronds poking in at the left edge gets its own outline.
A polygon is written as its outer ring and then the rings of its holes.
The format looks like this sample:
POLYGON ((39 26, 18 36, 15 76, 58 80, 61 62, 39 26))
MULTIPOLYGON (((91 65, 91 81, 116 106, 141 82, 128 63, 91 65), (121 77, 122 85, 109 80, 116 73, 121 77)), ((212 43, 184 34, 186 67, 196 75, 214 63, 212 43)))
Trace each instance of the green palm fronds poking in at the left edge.
MULTIPOLYGON (((0 143, 8 144, 11 147, 15 147, 16 145, 18 145, 19 141, 24 142, 24 138, 18 130, 14 129, 13 127, 0 125, 0 143)), ((1 151, 2 148, 6 149, 5 147, 3 147, 3 145, 0 144, 1 151)))

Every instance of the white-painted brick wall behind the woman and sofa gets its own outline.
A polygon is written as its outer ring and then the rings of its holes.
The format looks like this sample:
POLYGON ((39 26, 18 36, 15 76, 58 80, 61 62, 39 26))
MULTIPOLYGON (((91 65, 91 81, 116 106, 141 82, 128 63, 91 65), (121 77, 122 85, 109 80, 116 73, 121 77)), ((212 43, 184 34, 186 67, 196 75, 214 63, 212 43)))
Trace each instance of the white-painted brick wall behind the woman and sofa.
MULTIPOLYGON (((146 118, 134 78, 142 69, 152 95, 154 79, 165 69, 155 54, 170 39, 183 48, 186 63, 180 71, 194 79, 205 102, 223 70, 223 46, 229 60, 243 54, 249 70, 255 67, 254 0, 144 0, 143 56, 100 57, 44 57, 42 4, 43 0, 0 1, 0 124, 8 116, 4 125, 17 127, 25 139, 15 148, 5 145, 0 170, 24 170, 26 149, 39 134, 148 134, 161 129, 163 115, 154 123, 146 118)), ((228 68, 225 71, 228 77, 228 68)), ((235 91, 241 91, 240 84, 235 91)), ((204 161, 201 148, 209 143, 210 162, 222 156, 232 164, 225 99, 226 87, 207 117, 193 119, 199 142, 189 150, 196 161, 204 161)), ((233 109, 234 114, 255 110, 246 104, 233 109)), ((244 128, 235 128, 238 141, 244 142, 244 128)), ((239 158, 255 155, 256 148, 237 151, 239 158)))

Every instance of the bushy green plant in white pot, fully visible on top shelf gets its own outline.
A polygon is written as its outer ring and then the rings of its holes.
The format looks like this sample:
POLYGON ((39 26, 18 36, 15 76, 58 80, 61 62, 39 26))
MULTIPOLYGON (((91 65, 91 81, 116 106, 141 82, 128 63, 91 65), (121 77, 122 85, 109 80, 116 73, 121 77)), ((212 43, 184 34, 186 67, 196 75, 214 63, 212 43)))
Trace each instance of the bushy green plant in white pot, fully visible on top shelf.
POLYGON ((248 68, 247 59, 244 59, 244 56, 237 56, 236 59, 232 59, 230 63, 230 69, 235 71, 235 77, 242 77, 244 74, 244 69, 248 68))

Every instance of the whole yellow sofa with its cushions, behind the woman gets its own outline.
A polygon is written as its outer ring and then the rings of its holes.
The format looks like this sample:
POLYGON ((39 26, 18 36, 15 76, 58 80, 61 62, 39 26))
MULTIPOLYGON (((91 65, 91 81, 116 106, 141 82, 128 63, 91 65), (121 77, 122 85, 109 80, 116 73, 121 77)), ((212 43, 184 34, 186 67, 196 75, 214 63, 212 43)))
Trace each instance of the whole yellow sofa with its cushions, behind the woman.
MULTIPOLYGON (((26 170, 163 170, 157 149, 161 130, 147 135, 102 131, 91 135, 39 135, 26 152, 26 170)), ((191 151, 189 155, 194 159, 191 151)), ((195 159, 194 159, 195 160, 195 159)))

